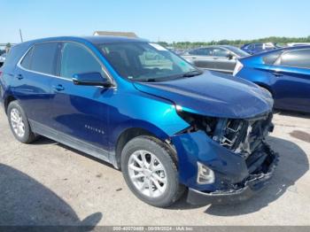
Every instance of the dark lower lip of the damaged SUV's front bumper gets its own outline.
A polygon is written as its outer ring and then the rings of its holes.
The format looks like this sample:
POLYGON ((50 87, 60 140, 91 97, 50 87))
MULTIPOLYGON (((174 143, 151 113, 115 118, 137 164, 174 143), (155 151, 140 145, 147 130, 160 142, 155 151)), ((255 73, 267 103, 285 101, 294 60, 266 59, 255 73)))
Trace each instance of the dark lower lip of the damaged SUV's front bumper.
POLYGON ((229 205, 239 203, 256 195, 270 181, 278 163, 277 153, 271 151, 269 147, 267 147, 266 153, 265 165, 267 165, 267 171, 265 173, 250 174, 244 183, 236 184, 238 187, 234 189, 204 192, 190 188, 187 201, 192 205, 229 205))

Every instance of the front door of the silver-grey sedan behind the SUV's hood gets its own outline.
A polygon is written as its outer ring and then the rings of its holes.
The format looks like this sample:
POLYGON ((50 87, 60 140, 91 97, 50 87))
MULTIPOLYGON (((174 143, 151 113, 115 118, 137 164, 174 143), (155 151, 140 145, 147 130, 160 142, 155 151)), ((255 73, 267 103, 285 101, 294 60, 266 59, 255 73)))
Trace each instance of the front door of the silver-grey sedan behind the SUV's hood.
POLYGON ((233 73, 236 66, 236 57, 229 57, 232 54, 223 48, 213 49, 214 69, 222 73, 233 73))

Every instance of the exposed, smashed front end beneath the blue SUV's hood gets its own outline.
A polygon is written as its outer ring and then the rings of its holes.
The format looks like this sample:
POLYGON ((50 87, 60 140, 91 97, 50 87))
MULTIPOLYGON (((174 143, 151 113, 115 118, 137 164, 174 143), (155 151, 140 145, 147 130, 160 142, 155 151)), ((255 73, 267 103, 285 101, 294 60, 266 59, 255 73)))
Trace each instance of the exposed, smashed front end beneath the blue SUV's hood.
POLYGON ((267 134, 274 129, 272 112, 244 120, 205 117, 189 112, 179 114, 190 124, 190 128, 182 131, 183 133, 203 130, 215 142, 245 159, 260 147, 267 134))

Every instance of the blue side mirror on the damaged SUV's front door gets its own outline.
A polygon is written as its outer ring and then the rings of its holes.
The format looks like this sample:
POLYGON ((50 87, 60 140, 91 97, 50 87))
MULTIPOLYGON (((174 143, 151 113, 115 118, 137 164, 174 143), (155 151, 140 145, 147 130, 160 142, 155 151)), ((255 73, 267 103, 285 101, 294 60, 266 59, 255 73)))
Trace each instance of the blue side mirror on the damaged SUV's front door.
POLYGON ((75 85, 111 87, 112 83, 101 73, 76 73, 73 78, 75 85))

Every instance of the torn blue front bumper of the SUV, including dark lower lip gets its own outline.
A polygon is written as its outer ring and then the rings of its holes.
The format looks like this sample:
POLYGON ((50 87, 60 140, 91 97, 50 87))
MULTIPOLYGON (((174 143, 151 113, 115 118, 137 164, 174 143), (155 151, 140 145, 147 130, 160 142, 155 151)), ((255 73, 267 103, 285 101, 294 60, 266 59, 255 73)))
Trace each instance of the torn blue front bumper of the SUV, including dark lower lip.
POLYGON ((265 142, 249 157, 221 146, 203 131, 174 135, 172 142, 179 180, 189 188, 187 201, 193 205, 233 204, 252 197, 267 185, 278 162, 278 154, 265 142), (213 170, 213 183, 197 182, 198 163, 213 170))

